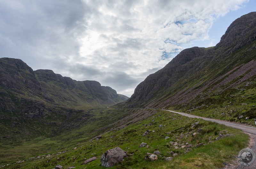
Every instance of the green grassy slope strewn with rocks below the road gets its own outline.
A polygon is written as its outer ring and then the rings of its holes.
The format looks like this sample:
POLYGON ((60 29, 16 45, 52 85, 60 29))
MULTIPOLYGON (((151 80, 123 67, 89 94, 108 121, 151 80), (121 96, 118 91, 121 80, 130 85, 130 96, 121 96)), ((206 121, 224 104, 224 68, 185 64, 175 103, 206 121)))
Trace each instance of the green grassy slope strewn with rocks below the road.
MULTIPOLYGON (((19 160, 24 160, 24 162, 15 162, 8 165, 7 168, 54 168, 57 164, 65 168, 69 166, 75 166, 76 168, 105 168, 100 163, 101 155, 108 149, 117 146, 127 151, 128 157, 113 168, 220 168, 224 166, 224 162, 228 163, 234 159, 238 152, 246 147, 248 138, 248 135, 237 129, 159 110, 157 114, 143 121, 133 123, 123 129, 117 128, 102 134, 102 138, 98 141, 96 139, 83 141, 81 137, 78 140, 76 138, 67 141, 38 138, 31 143, 24 142, 22 146, 14 147, 10 154, 13 154, 15 151, 18 154, 22 153, 22 149, 33 152, 24 153, 24 158, 19 158, 19 160), (176 119, 174 120, 173 118, 176 119), (197 121, 199 121, 199 124, 191 128, 191 124, 197 121), (153 123, 153 125, 145 125, 149 123, 153 123), (160 124, 163 127, 159 127, 160 124), (192 133, 198 129, 203 129, 203 132, 196 137, 192 137, 192 133), (151 132, 147 136, 142 137, 146 130, 151 130, 151 132), (223 134, 234 134, 235 136, 224 137, 215 141, 220 132, 223 134), (188 137, 186 137, 187 134, 188 137), (165 136, 170 138, 165 140, 165 136), (209 143, 209 137, 211 137, 212 143, 209 143), (188 142, 192 145, 204 143, 205 145, 199 148, 192 147, 192 151, 184 154, 186 149, 180 148, 176 150, 170 141, 180 144, 188 142), (139 148, 142 142, 147 143, 149 147, 139 148), (43 149, 47 152, 35 153, 35 150, 40 151, 43 149), (66 152, 52 155, 51 157, 42 156, 44 158, 37 158, 38 155, 56 154, 60 151, 66 152), (146 153, 153 153, 154 151, 160 151, 162 157, 158 156, 157 161, 145 160, 146 153), (164 157, 172 157, 169 153, 171 151, 179 155, 171 162, 166 162, 164 157), (82 164, 85 158, 88 159, 93 156, 98 159, 86 165, 82 164)), ((18 161, 18 159, 16 160, 18 161)), ((11 161, 8 162, 11 163, 11 161)), ((1 165, 8 162, 4 163, 2 161, 1 165)))

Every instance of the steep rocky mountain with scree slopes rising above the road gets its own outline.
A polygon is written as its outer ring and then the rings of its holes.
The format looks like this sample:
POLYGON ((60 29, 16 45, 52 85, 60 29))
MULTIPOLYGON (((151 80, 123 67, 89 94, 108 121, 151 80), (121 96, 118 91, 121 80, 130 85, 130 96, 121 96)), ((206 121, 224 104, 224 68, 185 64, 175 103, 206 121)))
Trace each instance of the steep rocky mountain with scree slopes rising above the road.
MULTIPOLYGON (((181 51, 164 68, 150 74, 119 106, 172 107, 193 113, 199 108, 214 108, 212 104, 231 104, 234 109, 242 103, 255 104, 255 18, 256 12, 251 12, 236 19, 216 46, 181 51)), ((244 108, 240 115, 256 115, 255 108, 244 108)), ((236 112, 234 116, 238 115, 236 112)))

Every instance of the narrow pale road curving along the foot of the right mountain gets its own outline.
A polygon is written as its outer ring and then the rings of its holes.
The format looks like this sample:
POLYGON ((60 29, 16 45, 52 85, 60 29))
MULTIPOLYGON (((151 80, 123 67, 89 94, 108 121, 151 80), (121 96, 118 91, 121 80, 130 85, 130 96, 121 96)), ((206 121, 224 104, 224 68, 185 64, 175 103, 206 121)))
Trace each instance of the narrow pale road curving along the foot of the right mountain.
MULTIPOLYGON (((250 143, 247 148, 250 148, 254 152, 256 152, 256 127, 251 127, 251 126, 247 126, 245 124, 238 124, 238 123, 234 123, 234 122, 228 122, 228 121, 224 121, 224 120, 217 120, 217 119, 211 119, 211 118, 207 118, 207 117, 190 115, 190 114, 176 112, 176 111, 172 111, 172 110, 166 110, 166 111, 170 111, 170 112, 177 113, 182 116, 187 116, 187 117, 191 117, 191 118, 201 118, 201 119, 204 119, 207 121, 224 124, 226 126, 233 127, 236 129, 241 129, 246 134, 248 134, 250 136, 250 143)), ((254 161, 254 163, 252 165, 245 167, 245 166, 241 165, 236 159, 234 159, 233 163, 227 164, 226 167, 224 167, 224 169, 240 169, 240 168, 255 169, 256 168, 256 160, 254 161)))

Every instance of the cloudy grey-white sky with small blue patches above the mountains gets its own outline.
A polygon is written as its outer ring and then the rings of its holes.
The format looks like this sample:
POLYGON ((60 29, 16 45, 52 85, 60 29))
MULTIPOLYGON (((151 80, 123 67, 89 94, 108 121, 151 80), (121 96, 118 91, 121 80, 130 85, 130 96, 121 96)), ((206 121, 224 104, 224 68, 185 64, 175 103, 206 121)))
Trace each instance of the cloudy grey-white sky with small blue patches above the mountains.
POLYGON ((215 46, 256 0, 0 0, 0 58, 131 96, 180 51, 215 46))

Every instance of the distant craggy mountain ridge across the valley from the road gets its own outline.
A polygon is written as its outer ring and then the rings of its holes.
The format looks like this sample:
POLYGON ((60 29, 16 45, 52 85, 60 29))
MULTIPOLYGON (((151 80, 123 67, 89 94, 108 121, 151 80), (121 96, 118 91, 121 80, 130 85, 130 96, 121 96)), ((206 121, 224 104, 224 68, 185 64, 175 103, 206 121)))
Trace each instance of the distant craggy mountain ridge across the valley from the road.
POLYGON ((60 126, 77 123, 89 109, 127 98, 97 81, 76 81, 52 70, 33 71, 20 59, 0 58, 0 129, 4 136, 0 139, 49 135, 60 126))

